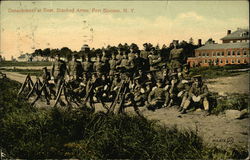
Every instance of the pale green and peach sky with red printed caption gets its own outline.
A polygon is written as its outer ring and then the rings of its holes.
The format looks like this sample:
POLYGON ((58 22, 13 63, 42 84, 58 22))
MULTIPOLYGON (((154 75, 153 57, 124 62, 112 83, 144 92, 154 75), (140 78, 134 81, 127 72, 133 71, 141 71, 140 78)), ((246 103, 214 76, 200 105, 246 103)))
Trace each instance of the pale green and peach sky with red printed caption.
POLYGON ((221 43, 227 30, 249 28, 242 1, 1 1, 0 54, 119 43, 167 46, 172 40, 221 43))

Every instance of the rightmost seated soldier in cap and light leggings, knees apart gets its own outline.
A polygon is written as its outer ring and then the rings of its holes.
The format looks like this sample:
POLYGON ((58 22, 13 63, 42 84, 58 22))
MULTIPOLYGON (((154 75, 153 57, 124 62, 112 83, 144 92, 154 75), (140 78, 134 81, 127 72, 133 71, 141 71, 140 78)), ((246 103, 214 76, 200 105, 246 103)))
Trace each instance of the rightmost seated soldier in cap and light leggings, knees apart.
POLYGON ((184 102, 183 109, 181 113, 186 113, 188 107, 191 102, 198 103, 199 105, 203 105, 205 111, 209 111, 209 102, 208 102, 208 88, 207 85, 203 84, 201 76, 194 76, 194 83, 189 90, 189 95, 187 100, 184 102))

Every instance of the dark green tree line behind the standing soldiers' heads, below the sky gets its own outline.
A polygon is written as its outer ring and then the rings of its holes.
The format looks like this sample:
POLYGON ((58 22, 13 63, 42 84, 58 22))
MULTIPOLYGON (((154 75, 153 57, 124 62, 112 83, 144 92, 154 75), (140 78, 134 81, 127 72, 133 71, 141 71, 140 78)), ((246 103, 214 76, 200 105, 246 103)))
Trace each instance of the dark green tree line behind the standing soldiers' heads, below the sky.
MULTIPOLYGON (((173 41, 174 42, 174 41, 173 41)), ((170 51, 174 48, 173 42, 167 45, 159 46, 156 45, 154 46, 151 43, 144 43, 143 44, 143 49, 144 51, 150 52, 151 49, 154 49, 158 52, 158 54, 162 57, 163 60, 168 60, 170 51)), ((186 41, 181 41, 178 43, 178 48, 183 48, 184 53, 183 53, 183 62, 186 62, 187 57, 193 57, 194 56, 194 50, 199 47, 199 45, 193 44, 192 39, 190 39, 189 42, 186 41)), ((117 46, 111 46, 108 45, 107 47, 102 47, 102 48, 89 48, 87 45, 84 45, 80 51, 73 51, 68 47, 63 47, 61 49, 51 49, 51 48, 45 48, 45 49, 36 49, 32 54, 33 57, 35 56, 42 56, 42 57, 51 57, 53 58, 57 53, 61 55, 61 57, 70 59, 72 54, 78 55, 78 57, 82 56, 90 56, 90 57, 95 57, 97 55, 103 54, 103 51, 105 51, 105 56, 111 57, 112 53, 118 53, 118 50, 125 51, 126 53, 129 52, 140 52, 141 50, 139 49, 138 45, 135 43, 131 43, 130 45, 127 43, 124 44, 118 44, 117 46)))

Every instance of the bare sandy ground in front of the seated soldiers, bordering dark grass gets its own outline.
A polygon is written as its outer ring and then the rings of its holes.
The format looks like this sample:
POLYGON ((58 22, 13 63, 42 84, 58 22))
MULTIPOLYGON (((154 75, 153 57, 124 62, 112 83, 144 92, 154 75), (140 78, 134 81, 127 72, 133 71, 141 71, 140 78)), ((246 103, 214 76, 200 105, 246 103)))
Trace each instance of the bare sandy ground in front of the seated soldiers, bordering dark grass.
POLYGON ((197 131, 198 135, 209 145, 227 148, 248 144, 249 118, 232 120, 225 115, 205 116, 202 111, 181 115, 175 108, 163 108, 155 112, 145 110, 143 114, 167 126, 176 125, 179 129, 197 131))

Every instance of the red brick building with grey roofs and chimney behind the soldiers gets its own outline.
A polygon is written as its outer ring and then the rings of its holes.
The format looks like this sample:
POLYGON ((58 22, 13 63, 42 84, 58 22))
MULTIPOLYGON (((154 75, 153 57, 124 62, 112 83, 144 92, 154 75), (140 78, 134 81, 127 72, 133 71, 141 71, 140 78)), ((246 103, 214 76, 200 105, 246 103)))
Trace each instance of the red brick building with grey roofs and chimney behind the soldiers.
POLYGON ((249 63, 249 30, 238 28, 235 32, 227 31, 221 38, 222 44, 214 41, 195 50, 195 57, 189 57, 187 63, 190 67, 196 66, 224 66, 227 64, 249 63))

